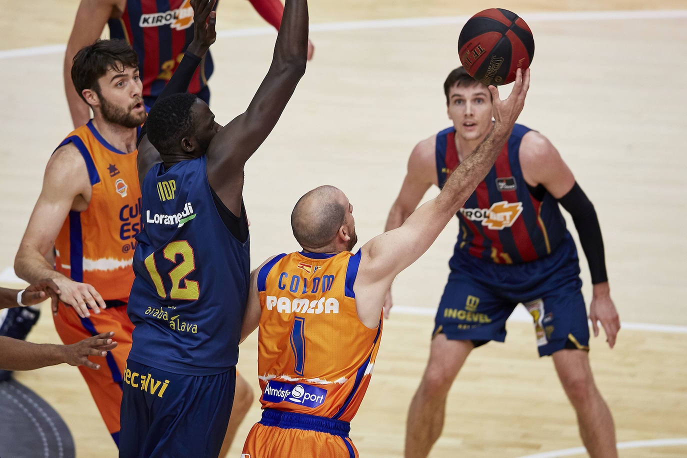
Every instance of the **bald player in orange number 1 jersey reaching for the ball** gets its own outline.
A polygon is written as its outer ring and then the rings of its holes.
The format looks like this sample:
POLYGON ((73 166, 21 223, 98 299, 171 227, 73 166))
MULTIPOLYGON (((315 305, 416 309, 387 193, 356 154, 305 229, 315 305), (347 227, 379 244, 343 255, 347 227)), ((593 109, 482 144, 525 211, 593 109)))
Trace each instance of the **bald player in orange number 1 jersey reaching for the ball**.
POLYGON ((495 124, 451 174, 440 194, 401 227, 357 242, 353 207, 333 186, 296 203, 291 227, 302 251, 270 257, 254 271, 242 339, 259 326, 262 420, 243 458, 357 457, 348 432, 370 383, 379 350, 385 295, 392 281, 436 240, 484 179, 513 129, 530 84, 518 70, 499 100, 495 124))

